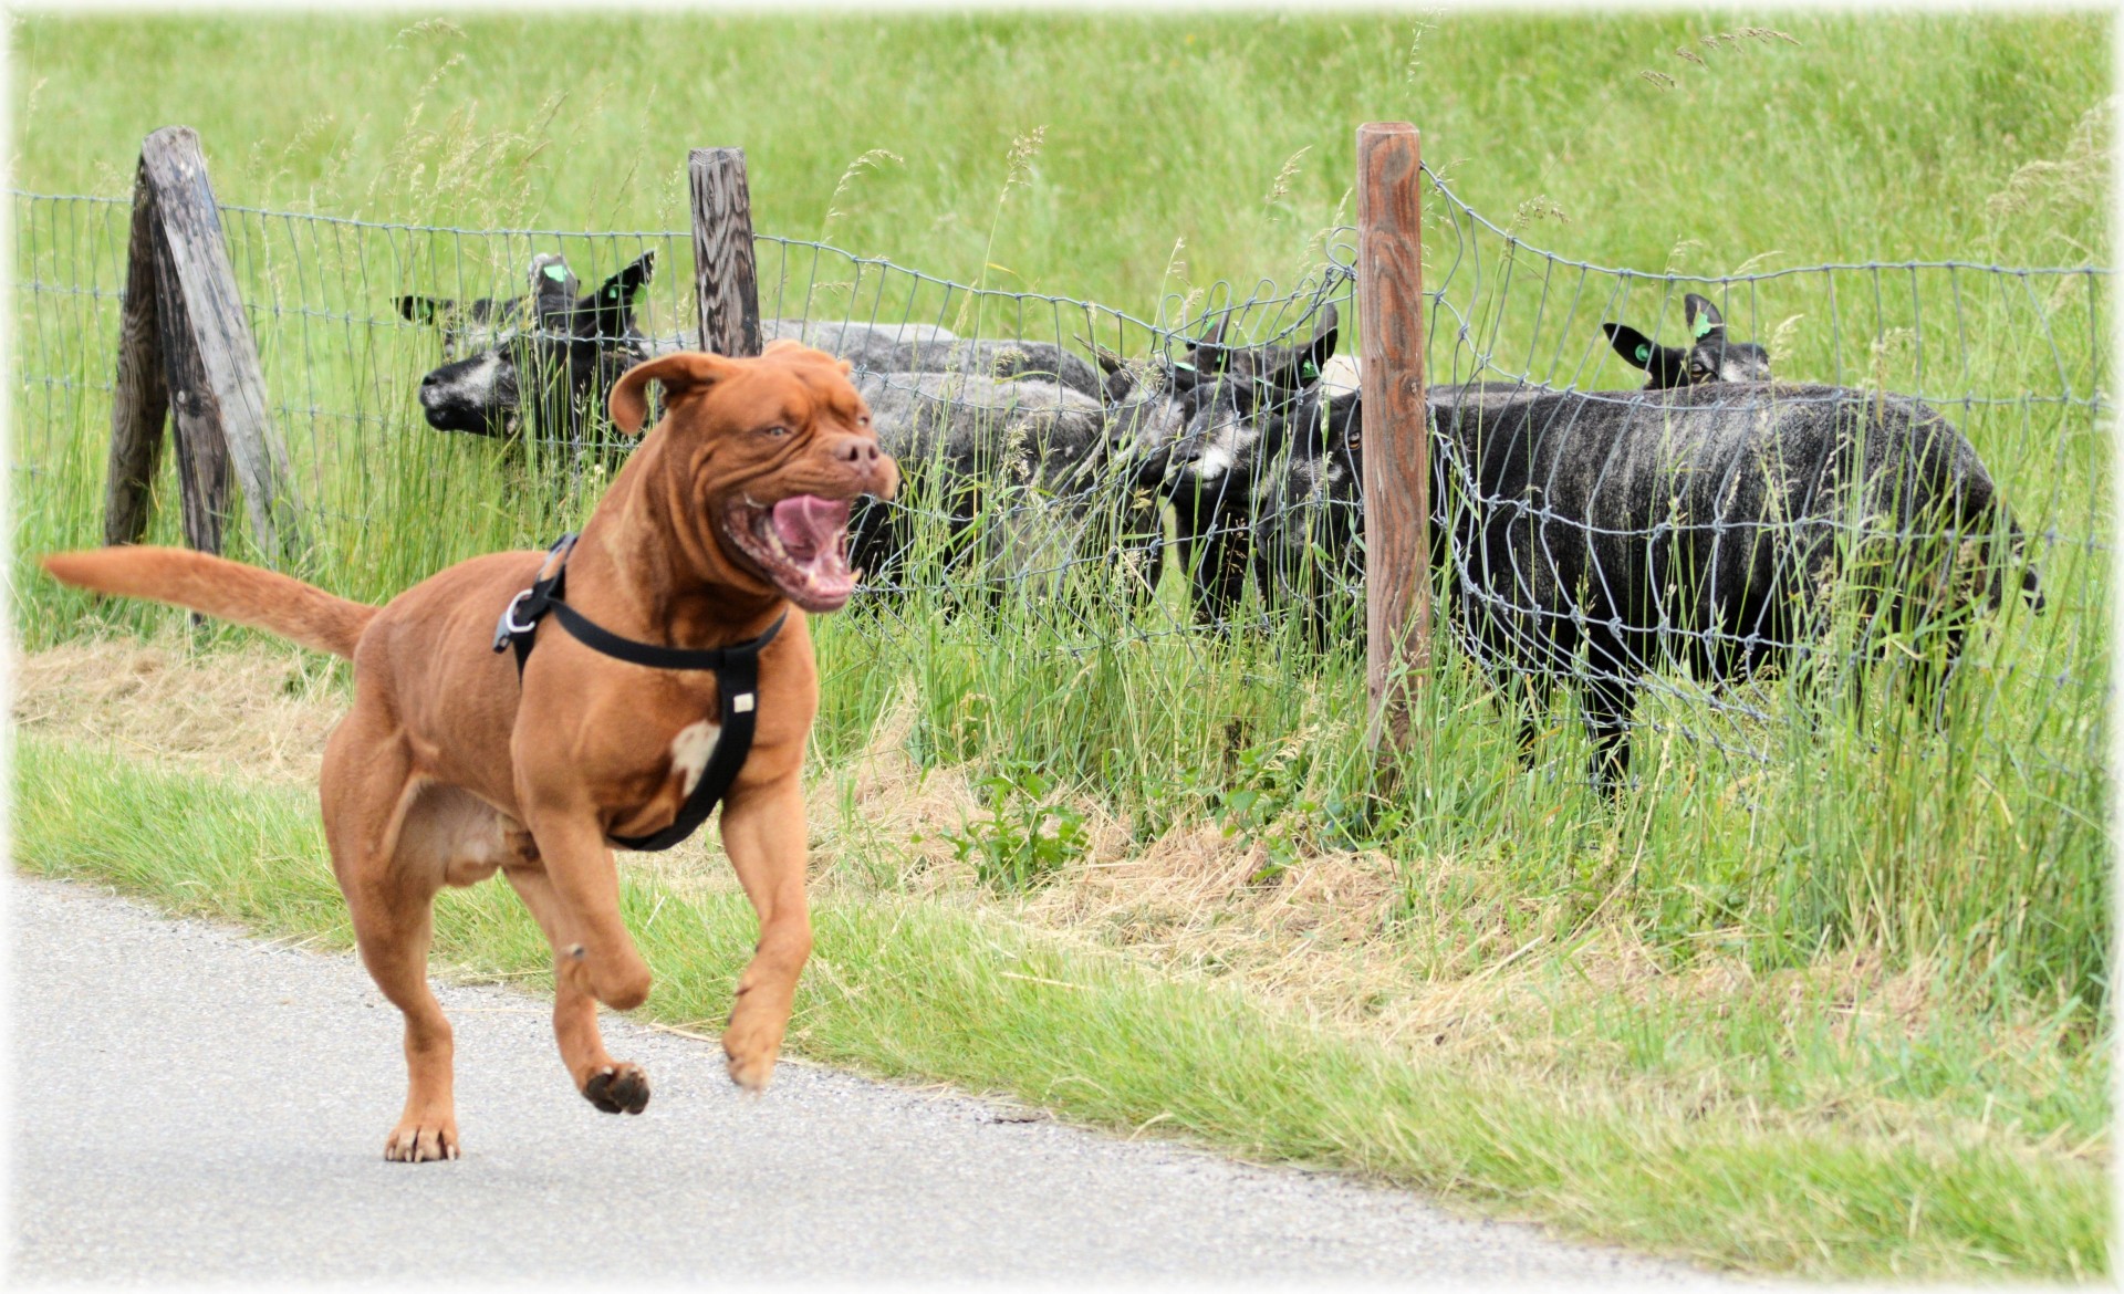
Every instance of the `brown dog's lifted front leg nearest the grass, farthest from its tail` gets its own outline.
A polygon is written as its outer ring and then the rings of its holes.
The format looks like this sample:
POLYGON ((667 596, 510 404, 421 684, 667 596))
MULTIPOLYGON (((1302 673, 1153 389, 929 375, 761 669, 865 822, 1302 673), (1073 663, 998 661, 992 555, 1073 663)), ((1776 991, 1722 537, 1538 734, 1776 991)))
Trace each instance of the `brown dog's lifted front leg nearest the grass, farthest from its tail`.
POLYGON ((722 1050, 731 1082, 758 1092, 775 1071, 782 1035, 796 999, 796 975, 811 956, 811 914, 805 907, 803 786, 788 776, 733 797, 722 810, 722 848, 760 914, 760 941, 737 980, 722 1050))

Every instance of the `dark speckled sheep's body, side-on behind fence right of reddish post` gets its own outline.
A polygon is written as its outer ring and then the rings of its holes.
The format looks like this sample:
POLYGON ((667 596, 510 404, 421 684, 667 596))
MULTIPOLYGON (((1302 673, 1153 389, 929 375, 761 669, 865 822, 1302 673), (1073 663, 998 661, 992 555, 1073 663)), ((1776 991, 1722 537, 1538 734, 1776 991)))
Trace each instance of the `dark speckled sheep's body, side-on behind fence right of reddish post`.
MULTIPOLYGON (((1969 440, 1931 406, 1844 387, 1563 393, 1438 414, 1459 627, 1536 697, 1580 691, 1595 778, 1629 769, 1638 680, 1788 663, 1848 589, 1875 631, 1926 627, 1950 669, 2022 546, 1969 440)), ((2037 576, 2022 593, 2041 608, 2037 576)))

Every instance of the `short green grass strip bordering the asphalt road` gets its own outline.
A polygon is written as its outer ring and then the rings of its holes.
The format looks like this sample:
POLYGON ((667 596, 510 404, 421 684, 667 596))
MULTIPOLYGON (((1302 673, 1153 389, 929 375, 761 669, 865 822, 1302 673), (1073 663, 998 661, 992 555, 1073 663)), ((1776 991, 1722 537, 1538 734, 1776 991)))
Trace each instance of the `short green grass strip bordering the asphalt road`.
MULTIPOLYGON (((172 912, 348 946, 312 797, 299 788, 170 776, 25 737, 15 856, 172 912), (170 848, 172 822, 185 822, 183 854, 170 848)), ((656 971, 646 1018, 712 1028, 752 941, 741 897, 629 878, 624 909, 656 971)), ((535 977, 550 965, 535 924, 497 884, 442 899, 435 956, 469 977, 535 977)), ((1257 1160, 1351 1169, 1723 1266, 2107 1271, 2109 1188, 2086 1160, 1969 1133, 1793 1130, 1742 1105, 1684 1118, 1599 1088, 1480 1082, 1223 988, 922 903, 820 907, 790 1045, 875 1075, 1009 1092, 1094 1126, 1155 1126, 1257 1160)))

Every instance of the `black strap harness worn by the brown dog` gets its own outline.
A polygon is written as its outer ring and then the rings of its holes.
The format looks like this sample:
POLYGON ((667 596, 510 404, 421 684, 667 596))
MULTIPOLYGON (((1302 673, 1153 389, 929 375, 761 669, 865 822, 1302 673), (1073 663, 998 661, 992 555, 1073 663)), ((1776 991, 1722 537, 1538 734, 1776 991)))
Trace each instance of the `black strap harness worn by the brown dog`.
POLYGON ((607 837, 622 850, 669 850, 699 831, 701 822, 707 822, 707 816, 716 812, 716 803, 731 790, 731 782, 737 780, 737 769, 746 767, 746 756, 752 754, 752 710, 760 684, 760 648, 773 642, 775 633, 782 633, 782 620, 788 620, 788 612, 782 612, 767 627, 767 633, 752 642, 709 652, 665 648, 620 637, 561 601, 561 586, 567 580, 567 559, 573 550, 576 535, 561 535, 546 555, 546 565, 552 567, 552 574, 542 576, 510 599, 510 606, 501 608, 501 620, 495 625, 495 650, 506 652, 514 646, 516 678, 523 678, 525 661, 531 659, 531 646, 537 640, 537 623, 546 618, 546 612, 552 612, 561 620, 561 629, 567 629, 576 642, 593 652, 603 652, 633 665, 648 665, 650 669, 716 671, 716 691, 722 693, 722 731, 716 735, 716 750, 707 756, 707 767, 701 769, 701 780, 692 784, 692 795, 680 805, 678 818, 656 835, 607 837))

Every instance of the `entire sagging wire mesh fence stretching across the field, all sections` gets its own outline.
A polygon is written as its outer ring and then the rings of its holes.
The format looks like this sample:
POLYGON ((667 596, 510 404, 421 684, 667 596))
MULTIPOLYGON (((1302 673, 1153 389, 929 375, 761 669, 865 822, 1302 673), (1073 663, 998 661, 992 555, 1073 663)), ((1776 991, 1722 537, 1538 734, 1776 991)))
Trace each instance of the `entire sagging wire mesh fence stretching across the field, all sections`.
MULTIPOLYGON (((19 535, 96 542, 130 204, 13 202, 19 535)), ((629 450, 605 389, 690 344, 684 229, 221 217, 312 567, 350 595, 580 525, 629 450)), ((2105 669, 2107 270, 1614 270, 1436 174, 1423 251, 1440 669, 1510 693, 1529 750, 1574 708, 1595 776, 1633 729, 1769 761, 1901 654, 1967 657, 1937 682, 1984 688, 1982 739, 2094 761, 2043 735, 2105 669)), ((765 336, 852 361, 907 482, 856 518, 833 633, 915 669, 939 620, 1064 654, 1264 635, 1294 676, 1361 657, 1349 229, 1298 285, 1141 312, 820 242, 756 257, 765 336)))

